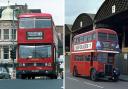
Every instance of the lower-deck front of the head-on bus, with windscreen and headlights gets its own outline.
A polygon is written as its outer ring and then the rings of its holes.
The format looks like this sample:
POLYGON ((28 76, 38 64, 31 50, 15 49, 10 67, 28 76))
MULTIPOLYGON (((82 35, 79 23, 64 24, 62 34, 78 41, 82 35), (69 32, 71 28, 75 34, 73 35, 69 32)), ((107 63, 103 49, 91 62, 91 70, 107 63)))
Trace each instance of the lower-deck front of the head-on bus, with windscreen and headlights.
POLYGON ((52 45, 44 44, 24 44, 19 45, 19 67, 17 70, 21 72, 41 72, 51 73, 53 72, 53 54, 52 45))

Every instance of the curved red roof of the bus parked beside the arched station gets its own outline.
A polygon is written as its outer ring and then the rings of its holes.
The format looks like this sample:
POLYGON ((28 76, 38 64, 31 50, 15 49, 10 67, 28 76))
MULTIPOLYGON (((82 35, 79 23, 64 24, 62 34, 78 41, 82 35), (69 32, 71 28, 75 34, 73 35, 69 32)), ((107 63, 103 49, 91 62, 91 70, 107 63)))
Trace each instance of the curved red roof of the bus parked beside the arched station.
POLYGON ((116 32, 112 29, 107 29, 107 28, 97 28, 95 30, 91 30, 91 31, 88 31, 88 32, 84 32, 84 33, 81 33, 81 34, 78 34, 76 36, 74 36, 74 38, 76 37, 79 37, 79 36, 83 36, 85 34, 89 34, 89 33, 93 33, 93 32, 106 32, 106 33, 113 33, 113 34, 116 34, 116 32))

